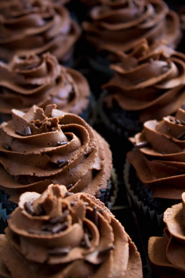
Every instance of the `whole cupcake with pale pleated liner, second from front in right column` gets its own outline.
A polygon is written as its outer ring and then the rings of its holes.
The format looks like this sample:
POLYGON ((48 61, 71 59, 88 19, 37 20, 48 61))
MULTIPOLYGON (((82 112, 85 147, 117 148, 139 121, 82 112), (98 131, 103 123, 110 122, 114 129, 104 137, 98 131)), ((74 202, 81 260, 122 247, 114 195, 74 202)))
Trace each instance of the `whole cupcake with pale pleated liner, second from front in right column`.
POLYGON ((127 153, 125 183, 137 202, 163 213, 185 191, 185 111, 147 121, 142 133, 129 139, 134 149, 127 153))

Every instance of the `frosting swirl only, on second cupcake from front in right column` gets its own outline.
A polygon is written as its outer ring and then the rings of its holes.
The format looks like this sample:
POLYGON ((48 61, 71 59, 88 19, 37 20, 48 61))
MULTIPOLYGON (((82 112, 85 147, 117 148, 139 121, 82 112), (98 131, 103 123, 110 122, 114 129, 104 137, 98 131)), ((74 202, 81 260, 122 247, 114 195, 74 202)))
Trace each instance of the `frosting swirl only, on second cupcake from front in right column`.
POLYGON ((180 200, 185 184, 185 111, 175 117, 144 123, 142 133, 130 138, 135 149, 127 154, 139 179, 153 198, 180 200))

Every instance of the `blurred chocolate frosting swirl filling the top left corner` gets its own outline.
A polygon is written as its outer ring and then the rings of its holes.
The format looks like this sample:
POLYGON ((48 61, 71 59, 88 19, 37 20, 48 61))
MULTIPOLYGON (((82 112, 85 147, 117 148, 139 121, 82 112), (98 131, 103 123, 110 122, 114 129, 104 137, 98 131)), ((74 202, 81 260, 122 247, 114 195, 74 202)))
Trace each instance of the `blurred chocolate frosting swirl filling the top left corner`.
POLYGON ((14 54, 50 51, 67 61, 80 36, 80 28, 68 10, 48 0, 0 1, 0 58, 10 61, 14 54))

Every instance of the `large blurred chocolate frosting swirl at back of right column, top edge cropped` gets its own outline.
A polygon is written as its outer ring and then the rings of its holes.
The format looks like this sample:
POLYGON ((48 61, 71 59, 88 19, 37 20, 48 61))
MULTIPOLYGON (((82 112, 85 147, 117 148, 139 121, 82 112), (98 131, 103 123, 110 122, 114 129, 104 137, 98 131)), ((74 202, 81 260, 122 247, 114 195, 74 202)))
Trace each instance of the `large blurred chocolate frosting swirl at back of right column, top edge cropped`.
POLYGON ((162 0, 100 0, 84 22, 87 40, 97 50, 128 51, 142 38, 175 48, 181 32, 178 15, 162 0), (97 44, 98 40, 98 44, 97 44))

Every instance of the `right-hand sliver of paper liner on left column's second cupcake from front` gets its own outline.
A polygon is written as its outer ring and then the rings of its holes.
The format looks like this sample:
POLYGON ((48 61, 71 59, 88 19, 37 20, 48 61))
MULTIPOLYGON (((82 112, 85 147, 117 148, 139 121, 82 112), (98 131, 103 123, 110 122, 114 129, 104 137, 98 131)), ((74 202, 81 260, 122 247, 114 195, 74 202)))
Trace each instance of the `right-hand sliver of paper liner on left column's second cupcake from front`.
POLYGON ((115 168, 112 169, 111 177, 108 181, 107 187, 102 189, 100 192, 101 195, 98 199, 100 199, 107 208, 111 209, 115 203, 118 192, 118 180, 115 168))

